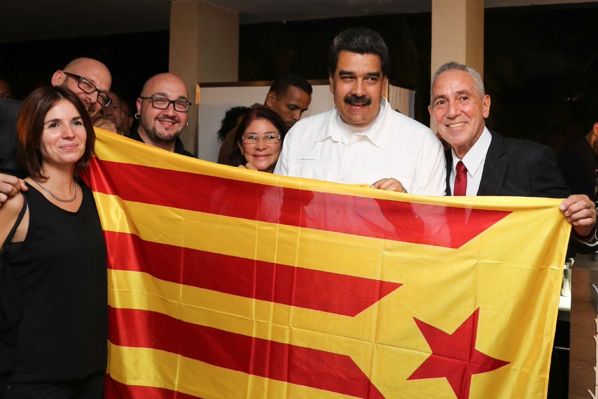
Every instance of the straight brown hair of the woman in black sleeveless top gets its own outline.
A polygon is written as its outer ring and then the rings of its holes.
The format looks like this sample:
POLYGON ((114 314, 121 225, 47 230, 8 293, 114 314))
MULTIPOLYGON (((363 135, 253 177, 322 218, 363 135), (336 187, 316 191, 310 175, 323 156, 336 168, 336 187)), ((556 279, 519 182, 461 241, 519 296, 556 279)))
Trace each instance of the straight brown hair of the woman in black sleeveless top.
POLYGON ((17 155, 19 156, 19 162, 29 176, 36 179, 47 179, 47 176, 41 174, 42 158, 39 143, 44 133, 45 116, 60 100, 66 100, 75 106, 75 109, 81 115, 87 133, 85 151, 77 161, 77 165, 75 165, 76 170, 86 170, 93 156, 96 133, 93 130, 93 125, 91 125, 89 113, 77 94, 62 86, 36 88, 23 102, 19 119, 17 119, 17 155))

